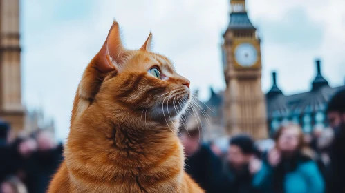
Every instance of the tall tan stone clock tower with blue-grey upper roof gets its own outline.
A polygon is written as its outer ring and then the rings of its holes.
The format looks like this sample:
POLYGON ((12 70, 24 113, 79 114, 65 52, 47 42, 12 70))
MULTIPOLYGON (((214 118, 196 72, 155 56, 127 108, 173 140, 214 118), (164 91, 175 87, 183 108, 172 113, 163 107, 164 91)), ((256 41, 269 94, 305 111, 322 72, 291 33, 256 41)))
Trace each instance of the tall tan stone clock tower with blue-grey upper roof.
POLYGON ((230 23, 223 35, 225 130, 268 136, 265 97, 261 90, 261 50, 257 29, 248 18, 245 0, 232 0, 230 23))

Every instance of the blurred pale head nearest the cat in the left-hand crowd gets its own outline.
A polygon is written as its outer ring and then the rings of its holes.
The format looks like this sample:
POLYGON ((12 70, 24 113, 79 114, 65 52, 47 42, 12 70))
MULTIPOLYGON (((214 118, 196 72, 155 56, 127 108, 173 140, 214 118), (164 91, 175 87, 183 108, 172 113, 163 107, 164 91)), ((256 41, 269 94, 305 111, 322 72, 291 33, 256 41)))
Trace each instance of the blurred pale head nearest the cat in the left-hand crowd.
POLYGON ((47 130, 39 130, 36 134, 36 141, 39 151, 51 150, 57 146, 54 135, 47 130))

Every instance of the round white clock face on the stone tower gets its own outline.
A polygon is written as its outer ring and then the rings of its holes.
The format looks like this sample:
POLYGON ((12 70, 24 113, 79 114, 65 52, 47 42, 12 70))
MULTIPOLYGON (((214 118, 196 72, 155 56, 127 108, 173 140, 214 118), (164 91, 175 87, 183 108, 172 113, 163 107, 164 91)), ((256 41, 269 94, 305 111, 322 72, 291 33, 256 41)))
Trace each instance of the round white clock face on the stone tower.
POLYGON ((257 49, 251 43, 241 43, 235 48, 235 59, 239 65, 250 67, 257 62, 257 49))

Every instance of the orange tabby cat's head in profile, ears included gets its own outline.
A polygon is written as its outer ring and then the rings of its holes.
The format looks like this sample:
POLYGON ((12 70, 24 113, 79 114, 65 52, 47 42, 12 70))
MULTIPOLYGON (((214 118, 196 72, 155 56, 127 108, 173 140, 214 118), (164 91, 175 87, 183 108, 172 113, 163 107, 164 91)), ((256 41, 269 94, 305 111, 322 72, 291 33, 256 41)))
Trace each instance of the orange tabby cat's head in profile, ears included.
POLYGON ((139 50, 122 46, 114 21, 100 52, 80 82, 72 120, 89 106, 102 107, 107 117, 119 113, 133 120, 174 120, 187 108, 189 80, 176 73, 167 57, 150 51, 152 34, 139 50))

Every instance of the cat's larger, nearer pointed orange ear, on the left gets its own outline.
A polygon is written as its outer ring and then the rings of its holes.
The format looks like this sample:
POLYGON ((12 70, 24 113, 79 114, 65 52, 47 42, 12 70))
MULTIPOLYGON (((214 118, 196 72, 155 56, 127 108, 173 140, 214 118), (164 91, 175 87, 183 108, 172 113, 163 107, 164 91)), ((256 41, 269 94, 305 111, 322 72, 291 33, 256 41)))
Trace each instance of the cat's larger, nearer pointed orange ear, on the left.
POLYGON ((96 55, 97 57, 97 69, 103 73, 117 70, 118 61, 122 53, 124 52, 120 37, 120 26, 117 21, 113 21, 106 41, 104 42, 100 52, 96 55))

